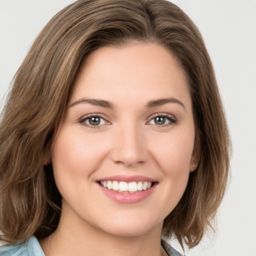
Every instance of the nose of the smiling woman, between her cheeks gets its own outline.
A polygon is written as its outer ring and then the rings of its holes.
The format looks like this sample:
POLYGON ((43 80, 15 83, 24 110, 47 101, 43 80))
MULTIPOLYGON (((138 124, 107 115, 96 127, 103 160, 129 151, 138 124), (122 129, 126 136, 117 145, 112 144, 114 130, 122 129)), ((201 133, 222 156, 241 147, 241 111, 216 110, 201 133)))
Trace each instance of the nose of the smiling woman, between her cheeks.
POLYGON ((148 157, 143 128, 135 124, 116 127, 112 143, 111 159, 115 163, 134 167, 148 157))

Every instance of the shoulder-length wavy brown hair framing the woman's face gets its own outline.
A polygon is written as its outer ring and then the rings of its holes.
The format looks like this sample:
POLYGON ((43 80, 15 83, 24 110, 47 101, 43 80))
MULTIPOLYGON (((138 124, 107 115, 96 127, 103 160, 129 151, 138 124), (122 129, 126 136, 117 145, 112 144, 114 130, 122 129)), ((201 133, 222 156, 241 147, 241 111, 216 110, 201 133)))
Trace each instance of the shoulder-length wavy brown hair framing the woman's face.
POLYGON ((91 51, 132 40, 156 42, 178 59, 200 133, 200 162, 164 219, 162 235, 193 247, 212 227, 226 188, 230 143, 212 63, 198 29, 166 0, 78 0, 39 33, 13 78, 1 115, 1 239, 15 243, 31 235, 43 238, 56 229, 61 195, 44 159, 77 69, 91 51))

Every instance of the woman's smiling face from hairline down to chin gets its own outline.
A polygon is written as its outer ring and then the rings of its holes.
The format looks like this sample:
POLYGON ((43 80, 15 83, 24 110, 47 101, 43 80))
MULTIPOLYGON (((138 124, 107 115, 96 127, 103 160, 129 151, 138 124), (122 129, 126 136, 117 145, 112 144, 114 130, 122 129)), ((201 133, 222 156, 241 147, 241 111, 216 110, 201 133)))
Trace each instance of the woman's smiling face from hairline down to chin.
POLYGON ((194 137, 188 84, 168 50, 95 50, 52 145, 61 219, 119 236, 161 228, 195 168, 194 137))

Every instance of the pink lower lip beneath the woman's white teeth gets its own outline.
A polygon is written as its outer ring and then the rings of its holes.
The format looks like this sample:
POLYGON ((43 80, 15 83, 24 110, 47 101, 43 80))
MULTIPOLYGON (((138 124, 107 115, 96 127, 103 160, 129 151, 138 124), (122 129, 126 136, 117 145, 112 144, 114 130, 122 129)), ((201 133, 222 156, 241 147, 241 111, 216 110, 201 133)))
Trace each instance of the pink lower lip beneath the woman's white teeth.
POLYGON ((103 193, 109 197, 110 199, 119 202, 119 203, 136 203, 144 200, 146 197, 148 197, 156 187, 156 183, 154 183, 150 188, 146 190, 141 190, 137 192, 117 192, 112 189, 107 189, 100 184, 98 184, 100 189, 103 191, 103 193))

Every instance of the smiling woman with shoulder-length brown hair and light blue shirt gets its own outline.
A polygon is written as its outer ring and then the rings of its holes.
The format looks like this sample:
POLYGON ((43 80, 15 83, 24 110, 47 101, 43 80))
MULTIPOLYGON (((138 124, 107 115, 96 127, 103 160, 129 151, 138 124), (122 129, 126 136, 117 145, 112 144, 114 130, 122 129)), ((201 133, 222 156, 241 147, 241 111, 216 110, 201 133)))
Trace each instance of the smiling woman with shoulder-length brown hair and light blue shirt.
POLYGON ((225 191, 229 137, 192 21, 78 0, 44 27, 0 123, 1 255, 176 255, 225 191))

